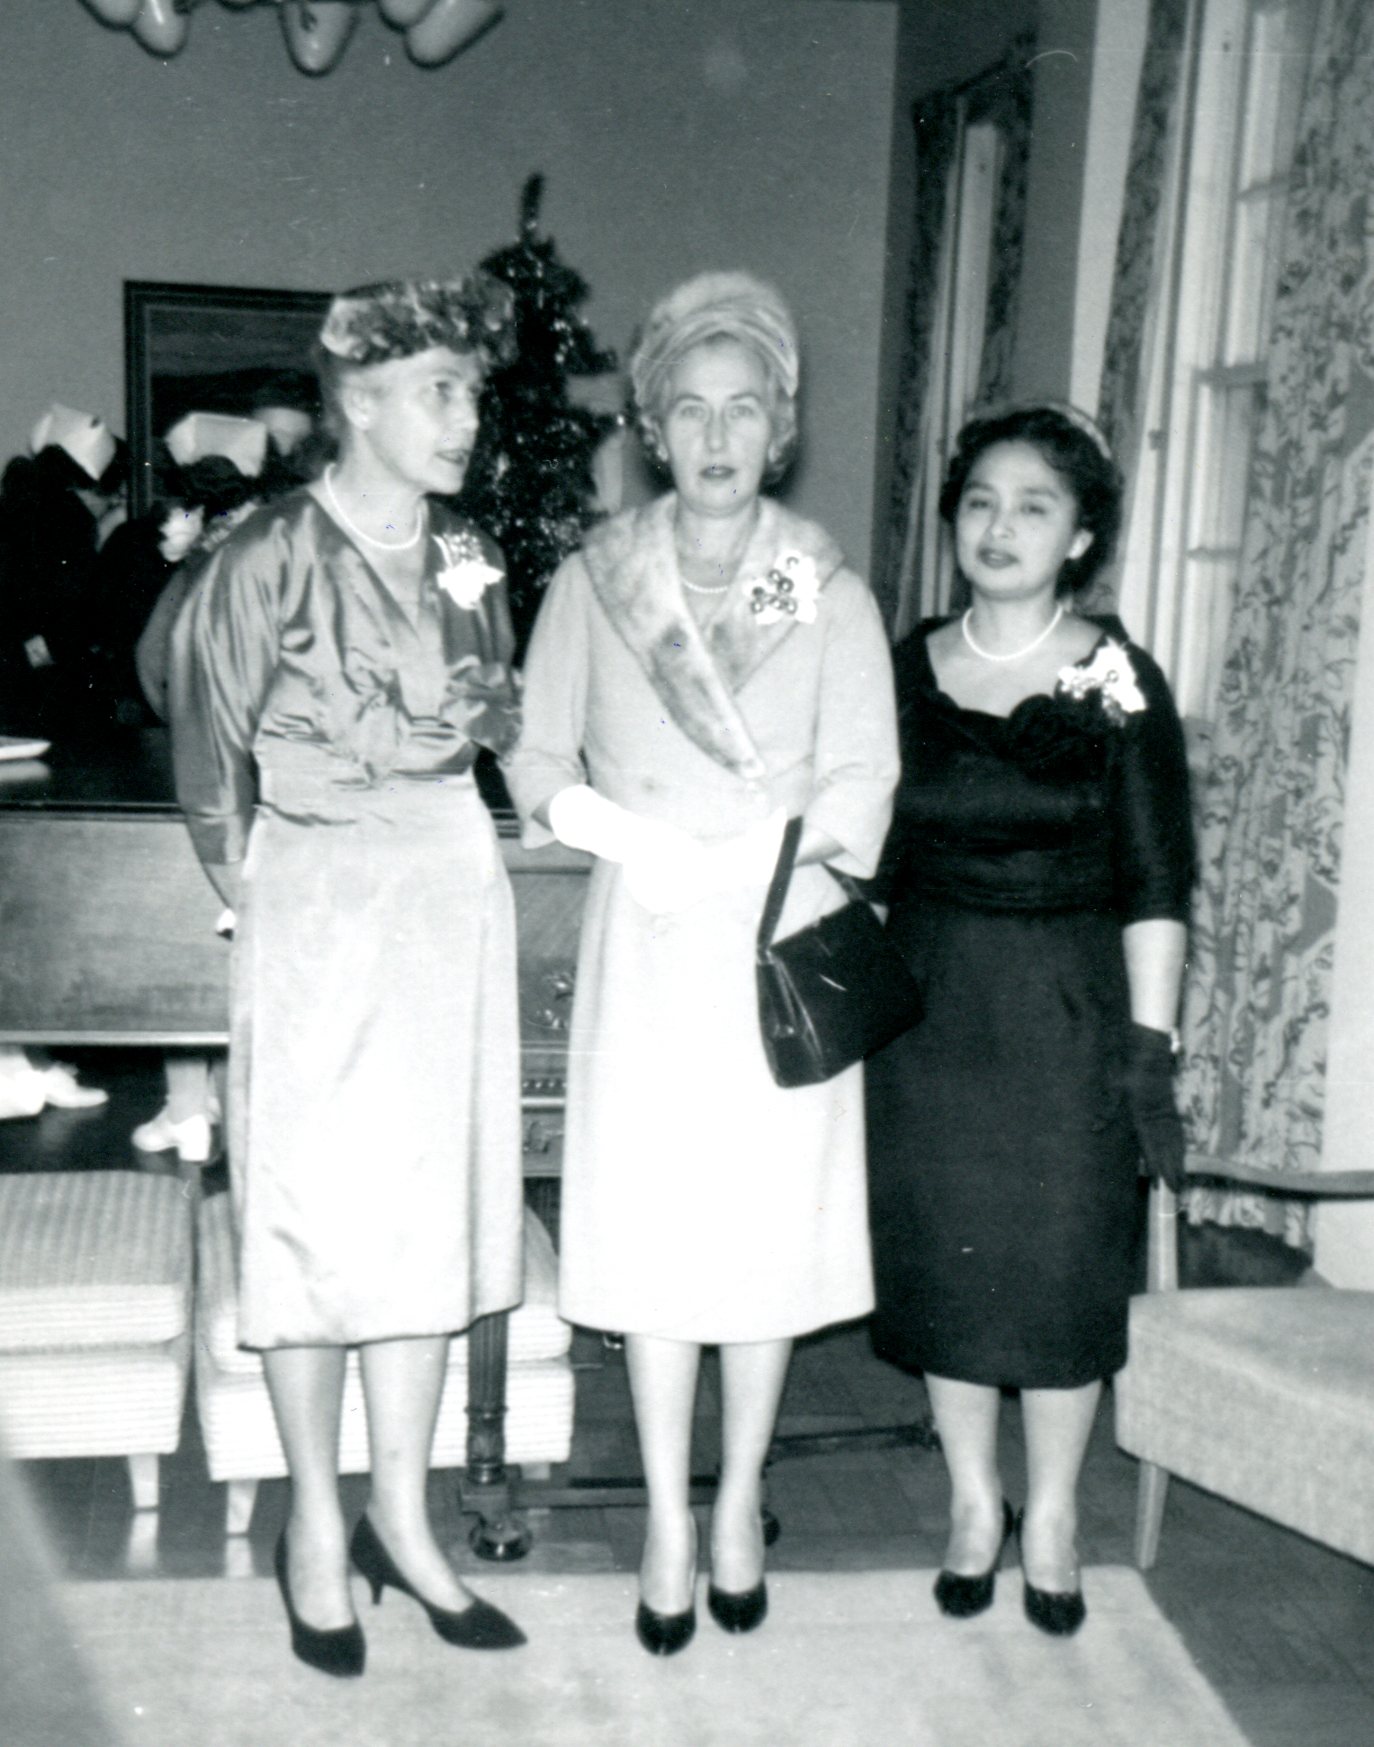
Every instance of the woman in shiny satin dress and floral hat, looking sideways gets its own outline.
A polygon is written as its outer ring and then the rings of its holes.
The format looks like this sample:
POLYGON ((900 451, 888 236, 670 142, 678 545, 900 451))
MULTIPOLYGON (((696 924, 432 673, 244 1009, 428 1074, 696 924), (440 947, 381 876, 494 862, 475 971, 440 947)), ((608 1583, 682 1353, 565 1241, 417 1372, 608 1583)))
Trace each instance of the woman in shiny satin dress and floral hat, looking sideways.
POLYGON ((339 454, 257 510, 173 636, 178 798, 236 912, 229 1164, 239 1338, 292 1476, 276 1574, 304 1661, 364 1668, 348 1562, 442 1639, 523 1642, 425 1511, 449 1335, 521 1296, 510 887, 472 765, 519 725, 500 552, 449 496, 510 295, 484 276, 334 300, 339 454), (358 1350, 372 1495, 336 1474, 358 1350))

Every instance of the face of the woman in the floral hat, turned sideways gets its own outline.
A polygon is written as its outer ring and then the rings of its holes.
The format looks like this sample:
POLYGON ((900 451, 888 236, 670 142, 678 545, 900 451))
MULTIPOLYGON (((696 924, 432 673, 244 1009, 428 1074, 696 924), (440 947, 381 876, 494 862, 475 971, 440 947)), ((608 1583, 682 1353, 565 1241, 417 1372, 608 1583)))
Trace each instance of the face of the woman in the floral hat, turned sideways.
POLYGON ((344 386, 350 444, 413 491, 460 491, 477 440, 475 358, 432 346, 369 365, 344 386))

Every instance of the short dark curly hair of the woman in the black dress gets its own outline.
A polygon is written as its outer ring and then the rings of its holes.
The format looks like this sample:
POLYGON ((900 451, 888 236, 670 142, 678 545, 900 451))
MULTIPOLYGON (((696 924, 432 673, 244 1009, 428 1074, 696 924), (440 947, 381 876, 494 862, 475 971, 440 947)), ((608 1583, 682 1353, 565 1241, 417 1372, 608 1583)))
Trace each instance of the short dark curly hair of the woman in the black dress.
POLYGON ((1040 452, 1045 466, 1065 480, 1073 493, 1079 528, 1093 535, 1093 543, 1082 557, 1065 561, 1059 571, 1061 596, 1082 594, 1110 563, 1121 533, 1124 486, 1121 468, 1096 433, 1096 426, 1080 412, 1061 412, 1058 407, 1010 407, 972 418, 958 435, 949 470, 940 487, 940 519, 953 526, 954 515, 977 459, 1000 442, 1024 442, 1040 452), (1082 423, 1079 423, 1082 419, 1082 423))

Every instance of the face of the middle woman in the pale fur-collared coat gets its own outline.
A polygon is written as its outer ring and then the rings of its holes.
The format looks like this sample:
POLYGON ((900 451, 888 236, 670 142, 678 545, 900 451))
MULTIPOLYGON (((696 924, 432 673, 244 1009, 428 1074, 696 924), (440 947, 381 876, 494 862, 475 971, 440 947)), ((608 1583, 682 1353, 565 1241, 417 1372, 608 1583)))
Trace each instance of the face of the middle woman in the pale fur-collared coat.
POLYGON ((659 433, 684 507, 732 515, 759 496, 773 442, 767 372, 736 339, 708 339, 673 365, 659 433))

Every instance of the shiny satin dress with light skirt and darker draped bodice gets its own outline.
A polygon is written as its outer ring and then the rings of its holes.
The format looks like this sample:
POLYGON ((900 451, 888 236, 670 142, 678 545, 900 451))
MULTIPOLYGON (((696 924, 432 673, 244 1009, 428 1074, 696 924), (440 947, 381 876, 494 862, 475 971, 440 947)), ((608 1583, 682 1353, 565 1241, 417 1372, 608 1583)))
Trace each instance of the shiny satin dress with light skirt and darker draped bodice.
POLYGON ((229 1169, 246 1347, 465 1328, 521 1296, 514 905, 472 779, 519 711, 500 554, 428 508, 418 610, 309 493, 173 632, 177 791, 241 861, 229 1169))

